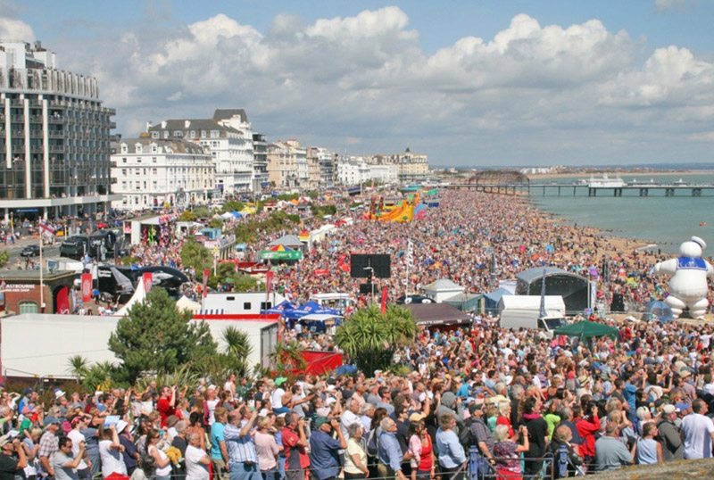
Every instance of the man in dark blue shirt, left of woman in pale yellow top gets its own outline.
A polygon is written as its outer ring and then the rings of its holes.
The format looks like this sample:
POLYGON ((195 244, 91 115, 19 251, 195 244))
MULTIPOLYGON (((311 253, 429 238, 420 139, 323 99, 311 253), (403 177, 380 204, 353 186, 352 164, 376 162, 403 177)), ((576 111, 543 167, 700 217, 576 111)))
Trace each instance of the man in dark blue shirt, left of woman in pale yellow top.
POLYGON ((315 418, 315 431, 310 435, 311 472, 318 480, 335 480, 339 474, 338 451, 347 448, 345 436, 337 420, 327 417, 315 418), (337 441, 332 437, 337 433, 337 441))

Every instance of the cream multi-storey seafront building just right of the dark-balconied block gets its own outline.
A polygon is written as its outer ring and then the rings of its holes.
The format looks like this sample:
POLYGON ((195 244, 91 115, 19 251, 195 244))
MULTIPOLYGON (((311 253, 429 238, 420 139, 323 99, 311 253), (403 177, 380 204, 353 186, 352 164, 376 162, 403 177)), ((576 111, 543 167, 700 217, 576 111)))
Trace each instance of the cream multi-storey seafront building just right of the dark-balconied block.
POLYGON ((278 187, 307 188, 310 178, 307 149, 297 140, 268 145, 268 178, 278 187))

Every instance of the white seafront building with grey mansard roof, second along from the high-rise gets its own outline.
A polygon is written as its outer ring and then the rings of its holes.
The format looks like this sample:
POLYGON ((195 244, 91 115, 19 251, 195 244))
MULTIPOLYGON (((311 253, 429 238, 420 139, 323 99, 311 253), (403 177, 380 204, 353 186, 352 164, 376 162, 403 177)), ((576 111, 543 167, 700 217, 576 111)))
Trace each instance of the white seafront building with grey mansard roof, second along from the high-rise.
POLYGON ((216 164, 216 197, 250 192, 253 186, 253 135, 215 120, 164 120, 146 128, 152 138, 183 138, 210 151, 216 164))

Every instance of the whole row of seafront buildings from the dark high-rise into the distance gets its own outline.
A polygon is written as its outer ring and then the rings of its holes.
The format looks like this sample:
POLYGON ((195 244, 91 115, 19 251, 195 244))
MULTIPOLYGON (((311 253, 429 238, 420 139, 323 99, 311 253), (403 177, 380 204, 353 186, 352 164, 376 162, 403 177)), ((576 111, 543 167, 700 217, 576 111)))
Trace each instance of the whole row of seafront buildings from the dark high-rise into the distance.
POLYGON ((112 136, 95 78, 59 68, 39 42, 0 40, 0 213, 44 217, 205 203, 265 188, 414 183, 426 155, 347 157, 268 142, 241 109, 112 136))

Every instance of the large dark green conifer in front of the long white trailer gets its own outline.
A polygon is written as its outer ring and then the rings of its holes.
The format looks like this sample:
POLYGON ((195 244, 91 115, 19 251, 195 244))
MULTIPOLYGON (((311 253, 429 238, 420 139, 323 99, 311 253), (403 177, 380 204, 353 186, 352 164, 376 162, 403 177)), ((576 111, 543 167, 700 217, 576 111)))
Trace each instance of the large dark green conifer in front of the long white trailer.
POLYGON ((215 356, 217 345, 208 324, 192 323, 192 318, 158 287, 134 304, 109 338, 109 349, 123 362, 124 379, 134 384, 145 372, 161 375, 215 356))

